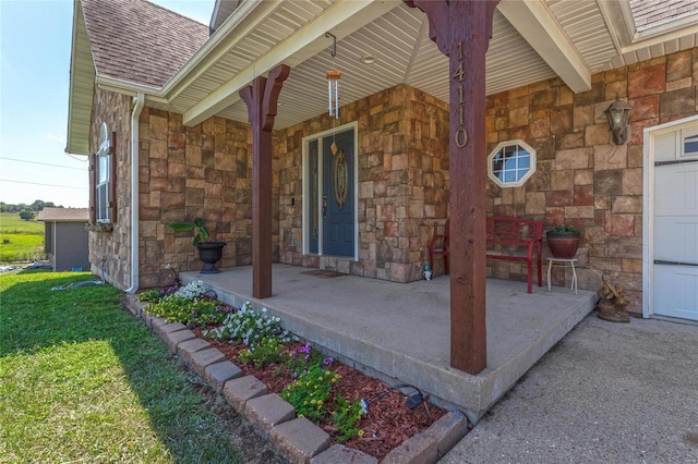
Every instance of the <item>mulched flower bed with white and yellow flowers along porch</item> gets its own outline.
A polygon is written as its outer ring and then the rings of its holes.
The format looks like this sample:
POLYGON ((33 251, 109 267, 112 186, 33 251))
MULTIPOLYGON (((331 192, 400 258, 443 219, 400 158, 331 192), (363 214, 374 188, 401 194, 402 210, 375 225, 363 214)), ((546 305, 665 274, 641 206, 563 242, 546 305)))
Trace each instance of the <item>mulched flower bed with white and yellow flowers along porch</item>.
POLYGON ((266 310, 231 308, 204 296, 201 281, 182 289, 142 294, 153 316, 179 321, 206 339, 245 375, 267 384, 324 429, 334 443, 383 459, 423 432, 445 411, 431 405, 411 386, 388 386, 323 355, 284 330, 266 310), (411 400, 411 401, 410 401, 411 400), (410 406, 407 405, 410 401, 410 406), (413 404, 412 404, 413 403, 413 404))

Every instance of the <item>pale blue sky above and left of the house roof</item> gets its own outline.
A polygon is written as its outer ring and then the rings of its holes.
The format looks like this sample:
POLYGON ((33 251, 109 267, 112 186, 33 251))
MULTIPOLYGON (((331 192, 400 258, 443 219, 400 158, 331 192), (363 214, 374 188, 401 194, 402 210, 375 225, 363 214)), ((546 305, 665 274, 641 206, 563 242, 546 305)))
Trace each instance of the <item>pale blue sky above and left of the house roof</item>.
MULTIPOLYGON (((214 0, 155 0, 208 24, 214 0)), ((0 202, 87 207, 87 158, 64 152, 71 0, 0 0, 0 202)))

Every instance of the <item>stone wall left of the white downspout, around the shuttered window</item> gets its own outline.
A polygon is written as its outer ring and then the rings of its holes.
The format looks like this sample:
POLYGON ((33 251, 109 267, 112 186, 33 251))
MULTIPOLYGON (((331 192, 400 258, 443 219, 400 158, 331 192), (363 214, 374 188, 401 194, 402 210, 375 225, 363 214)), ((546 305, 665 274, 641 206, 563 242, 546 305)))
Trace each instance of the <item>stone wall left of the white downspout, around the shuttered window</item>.
MULTIPOLYGON (((111 232, 89 232, 92 271, 120 289, 131 285, 131 98, 95 87, 89 152, 99 147, 99 129, 117 133, 117 221, 111 232)), ((92 206, 92 205, 91 205, 92 206)))

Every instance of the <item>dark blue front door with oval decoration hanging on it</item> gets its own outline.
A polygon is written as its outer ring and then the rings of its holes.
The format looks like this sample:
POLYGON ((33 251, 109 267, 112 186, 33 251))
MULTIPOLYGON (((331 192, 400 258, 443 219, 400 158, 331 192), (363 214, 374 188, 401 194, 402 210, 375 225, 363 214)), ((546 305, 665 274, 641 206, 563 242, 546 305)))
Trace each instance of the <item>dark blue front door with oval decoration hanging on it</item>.
POLYGON ((353 257, 356 228, 353 130, 329 135, 322 142, 323 254, 353 257))

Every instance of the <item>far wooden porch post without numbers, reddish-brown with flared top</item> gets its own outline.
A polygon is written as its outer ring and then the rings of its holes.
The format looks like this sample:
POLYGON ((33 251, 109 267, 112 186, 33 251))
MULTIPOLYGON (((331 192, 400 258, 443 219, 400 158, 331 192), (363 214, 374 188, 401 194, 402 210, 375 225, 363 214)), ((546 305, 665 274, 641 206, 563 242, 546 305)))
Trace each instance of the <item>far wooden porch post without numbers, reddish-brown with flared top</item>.
POLYGON ((252 126, 252 296, 272 296, 272 129, 290 68, 280 64, 240 90, 252 126))

